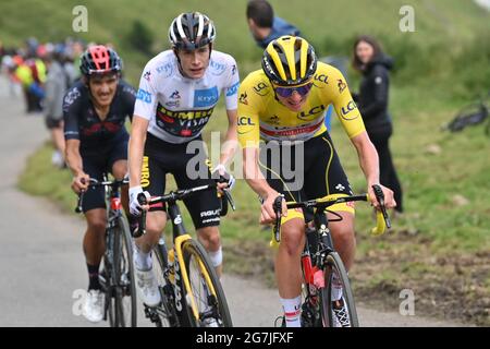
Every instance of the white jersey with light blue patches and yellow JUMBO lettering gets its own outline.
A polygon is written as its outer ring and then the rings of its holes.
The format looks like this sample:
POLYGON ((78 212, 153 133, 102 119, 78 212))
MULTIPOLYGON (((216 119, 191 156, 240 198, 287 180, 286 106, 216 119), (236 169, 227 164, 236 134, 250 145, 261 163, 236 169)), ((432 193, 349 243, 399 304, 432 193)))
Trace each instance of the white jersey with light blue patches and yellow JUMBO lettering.
POLYGON ((240 85, 236 62, 211 51, 201 79, 184 77, 172 50, 152 58, 139 81, 134 113, 149 120, 148 132, 169 143, 185 143, 200 135, 221 93, 226 110, 237 109, 240 85))

